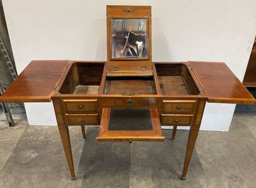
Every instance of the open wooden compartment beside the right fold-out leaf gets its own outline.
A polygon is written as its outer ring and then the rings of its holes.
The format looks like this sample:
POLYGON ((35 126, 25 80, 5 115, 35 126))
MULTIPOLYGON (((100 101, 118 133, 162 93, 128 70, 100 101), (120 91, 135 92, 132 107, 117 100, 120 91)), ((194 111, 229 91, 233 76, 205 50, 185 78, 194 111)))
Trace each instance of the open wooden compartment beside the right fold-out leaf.
POLYGON ((162 95, 199 95, 186 65, 155 63, 155 69, 162 95))

